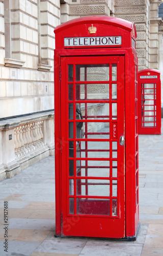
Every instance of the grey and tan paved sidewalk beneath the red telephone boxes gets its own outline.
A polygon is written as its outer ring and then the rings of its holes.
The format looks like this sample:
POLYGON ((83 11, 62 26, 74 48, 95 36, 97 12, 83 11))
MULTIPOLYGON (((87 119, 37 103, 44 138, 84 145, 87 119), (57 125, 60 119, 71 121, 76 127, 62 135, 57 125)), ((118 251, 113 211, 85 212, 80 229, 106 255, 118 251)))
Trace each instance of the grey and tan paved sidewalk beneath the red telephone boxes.
POLYGON ((141 228, 137 241, 55 238, 54 157, 48 157, 0 182, 0 255, 162 256, 163 132, 140 135, 139 144, 141 228), (3 217, 6 201, 9 226, 3 217), (4 251, 5 233, 8 252, 4 251))

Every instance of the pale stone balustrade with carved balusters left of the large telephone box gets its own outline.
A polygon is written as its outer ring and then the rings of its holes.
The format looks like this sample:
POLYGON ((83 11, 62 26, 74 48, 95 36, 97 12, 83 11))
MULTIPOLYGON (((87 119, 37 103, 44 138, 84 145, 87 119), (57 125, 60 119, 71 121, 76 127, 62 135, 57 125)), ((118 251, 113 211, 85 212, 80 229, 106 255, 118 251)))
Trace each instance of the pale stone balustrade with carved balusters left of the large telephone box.
POLYGON ((54 154, 53 111, 0 121, 0 180, 54 154))

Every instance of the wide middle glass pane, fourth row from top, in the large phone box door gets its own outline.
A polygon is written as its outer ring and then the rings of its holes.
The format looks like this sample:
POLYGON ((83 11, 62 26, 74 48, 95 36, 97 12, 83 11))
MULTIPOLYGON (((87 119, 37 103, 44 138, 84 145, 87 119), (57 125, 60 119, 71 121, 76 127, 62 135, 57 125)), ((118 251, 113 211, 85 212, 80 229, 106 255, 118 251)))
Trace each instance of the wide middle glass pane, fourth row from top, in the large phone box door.
POLYGON ((88 139, 109 139, 109 122, 82 122, 82 128, 78 127, 76 122, 76 138, 88 139), (80 130, 80 133, 79 133, 80 130))

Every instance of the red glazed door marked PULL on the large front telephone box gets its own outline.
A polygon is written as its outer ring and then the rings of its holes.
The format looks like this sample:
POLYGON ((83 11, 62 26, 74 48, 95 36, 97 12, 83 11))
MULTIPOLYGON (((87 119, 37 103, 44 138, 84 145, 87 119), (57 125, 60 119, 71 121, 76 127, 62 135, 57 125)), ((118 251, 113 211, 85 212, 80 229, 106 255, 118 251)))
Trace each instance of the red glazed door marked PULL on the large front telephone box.
POLYGON ((125 236, 124 56, 61 57, 62 236, 125 236))

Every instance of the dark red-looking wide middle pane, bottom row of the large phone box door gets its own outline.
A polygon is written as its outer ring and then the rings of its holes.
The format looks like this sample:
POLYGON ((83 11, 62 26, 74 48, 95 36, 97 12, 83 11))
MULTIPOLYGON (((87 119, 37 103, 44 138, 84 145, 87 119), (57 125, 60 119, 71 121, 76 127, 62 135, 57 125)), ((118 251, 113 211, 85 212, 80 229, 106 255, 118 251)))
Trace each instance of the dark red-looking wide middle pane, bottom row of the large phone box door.
POLYGON ((77 198, 77 214, 110 215, 110 199, 77 198))

